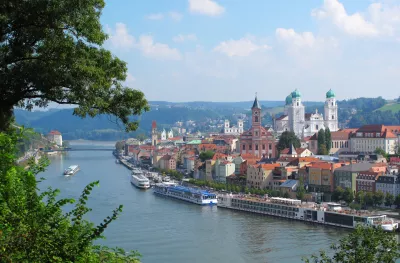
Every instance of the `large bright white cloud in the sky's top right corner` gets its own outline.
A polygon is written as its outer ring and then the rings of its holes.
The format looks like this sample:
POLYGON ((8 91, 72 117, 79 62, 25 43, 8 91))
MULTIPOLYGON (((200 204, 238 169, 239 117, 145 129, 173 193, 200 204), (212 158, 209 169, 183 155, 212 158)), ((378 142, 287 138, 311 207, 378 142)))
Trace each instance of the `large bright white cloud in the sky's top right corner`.
POLYGON ((400 7, 373 3, 367 12, 348 14, 338 0, 325 0, 311 15, 333 23, 345 34, 358 37, 391 36, 400 22, 400 7))

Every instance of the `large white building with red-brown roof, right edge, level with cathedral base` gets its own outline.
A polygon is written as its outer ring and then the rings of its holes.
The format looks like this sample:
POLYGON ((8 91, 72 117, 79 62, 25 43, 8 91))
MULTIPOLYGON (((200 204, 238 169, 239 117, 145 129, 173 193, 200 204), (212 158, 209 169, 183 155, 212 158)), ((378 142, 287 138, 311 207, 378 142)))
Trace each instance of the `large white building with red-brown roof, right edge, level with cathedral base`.
POLYGON ((364 125, 350 135, 350 151, 373 153, 377 148, 388 154, 395 154, 398 145, 397 135, 385 125, 364 125))

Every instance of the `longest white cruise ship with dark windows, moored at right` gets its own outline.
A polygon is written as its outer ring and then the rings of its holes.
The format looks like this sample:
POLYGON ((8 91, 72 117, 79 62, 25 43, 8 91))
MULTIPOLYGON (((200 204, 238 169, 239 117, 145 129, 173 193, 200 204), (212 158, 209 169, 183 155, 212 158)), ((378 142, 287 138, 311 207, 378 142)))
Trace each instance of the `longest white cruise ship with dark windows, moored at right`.
POLYGON ((302 203, 300 200, 280 197, 221 194, 218 195, 218 207, 344 228, 355 228, 361 224, 380 226, 385 231, 398 229, 398 223, 386 215, 350 210, 336 203, 302 203))

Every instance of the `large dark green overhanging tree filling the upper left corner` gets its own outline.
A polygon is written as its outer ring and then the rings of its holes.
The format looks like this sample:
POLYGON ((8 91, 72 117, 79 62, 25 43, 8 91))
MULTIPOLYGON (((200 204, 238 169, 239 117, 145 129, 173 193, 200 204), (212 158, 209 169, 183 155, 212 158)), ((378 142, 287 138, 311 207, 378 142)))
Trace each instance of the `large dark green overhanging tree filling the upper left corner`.
POLYGON ((148 110, 144 94, 124 86, 126 63, 103 48, 104 0, 28 1, 0 4, 0 131, 13 109, 49 102, 76 105, 74 114, 108 114, 127 131, 148 110))

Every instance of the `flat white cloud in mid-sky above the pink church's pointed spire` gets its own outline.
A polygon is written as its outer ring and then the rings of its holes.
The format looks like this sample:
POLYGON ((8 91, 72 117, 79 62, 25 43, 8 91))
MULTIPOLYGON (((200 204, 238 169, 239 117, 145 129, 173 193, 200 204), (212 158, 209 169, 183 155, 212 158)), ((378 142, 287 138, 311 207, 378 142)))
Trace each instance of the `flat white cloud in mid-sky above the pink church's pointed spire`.
POLYGON ((218 44, 214 51, 223 53, 228 57, 246 57, 259 50, 270 49, 268 45, 256 44, 250 38, 241 38, 239 40, 227 40, 218 44))

